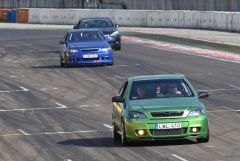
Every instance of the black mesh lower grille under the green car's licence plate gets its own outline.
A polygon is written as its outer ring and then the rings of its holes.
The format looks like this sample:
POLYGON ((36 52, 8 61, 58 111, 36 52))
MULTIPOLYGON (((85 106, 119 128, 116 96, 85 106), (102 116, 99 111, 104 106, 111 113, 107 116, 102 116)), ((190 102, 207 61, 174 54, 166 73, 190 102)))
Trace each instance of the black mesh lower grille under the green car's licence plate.
POLYGON ((152 135, 178 135, 185 134, 187 132, 187 128, 181 129, 150 129, 150 133, 152 135))

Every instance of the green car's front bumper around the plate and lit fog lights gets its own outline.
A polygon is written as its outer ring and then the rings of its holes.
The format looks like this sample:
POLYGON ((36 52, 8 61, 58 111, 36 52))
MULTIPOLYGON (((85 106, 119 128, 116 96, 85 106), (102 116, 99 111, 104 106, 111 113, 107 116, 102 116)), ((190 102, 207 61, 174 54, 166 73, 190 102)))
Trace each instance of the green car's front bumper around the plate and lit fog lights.
POLYGON ((125 119, 124 123, 128 140, 205 138, 208 135, 208 118, 206 115, 184 118, 125 119), (181 128, 156 129, 156 124, 161 123, 181 123, 181 128), (192 131, 194 127, 197 128, 197 132, 192 131), (144 135, 139 135, 138 130, 144 130, 144 135))

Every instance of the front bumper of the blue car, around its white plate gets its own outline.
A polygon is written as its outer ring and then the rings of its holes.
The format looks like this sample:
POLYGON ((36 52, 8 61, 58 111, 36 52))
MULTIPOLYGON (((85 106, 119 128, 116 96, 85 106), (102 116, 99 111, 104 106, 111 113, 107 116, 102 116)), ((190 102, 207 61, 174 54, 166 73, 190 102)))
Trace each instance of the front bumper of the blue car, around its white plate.
POLYGON ((71 53, 67 56, 68 65, 90 65, 90 64, 113 64, 112 51, 71 53), (97 57, 84 57, 84 55, 97 55, 97 57))

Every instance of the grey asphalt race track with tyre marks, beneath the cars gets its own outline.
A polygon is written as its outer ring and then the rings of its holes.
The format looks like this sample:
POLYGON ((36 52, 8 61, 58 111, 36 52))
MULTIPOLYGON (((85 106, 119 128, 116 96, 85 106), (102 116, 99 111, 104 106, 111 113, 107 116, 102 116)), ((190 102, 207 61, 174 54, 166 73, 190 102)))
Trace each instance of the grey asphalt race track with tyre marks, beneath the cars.
POLYGON ((60 68, 65 30, 0 30, 1 161, 239 161, 240 64, 123 42, 114 66, 60 68), (204 99, 210 142, 111 139, 111 97, 128 76, 182 73, 204 99))

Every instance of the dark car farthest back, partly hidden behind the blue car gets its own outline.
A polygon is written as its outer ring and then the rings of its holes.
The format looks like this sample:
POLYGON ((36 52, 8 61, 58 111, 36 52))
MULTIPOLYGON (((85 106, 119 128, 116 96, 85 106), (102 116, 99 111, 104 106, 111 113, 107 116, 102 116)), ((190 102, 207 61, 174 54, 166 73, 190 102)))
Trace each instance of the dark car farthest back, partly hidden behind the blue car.
POLYGON ((121 50, 121 34, 117 29, 118 27, 108 17, 87 17, 80 19, 78 24, 73 28, 99 28, 102 30, 111 47, 115 50, 121 50))

